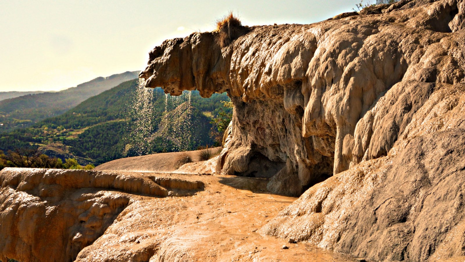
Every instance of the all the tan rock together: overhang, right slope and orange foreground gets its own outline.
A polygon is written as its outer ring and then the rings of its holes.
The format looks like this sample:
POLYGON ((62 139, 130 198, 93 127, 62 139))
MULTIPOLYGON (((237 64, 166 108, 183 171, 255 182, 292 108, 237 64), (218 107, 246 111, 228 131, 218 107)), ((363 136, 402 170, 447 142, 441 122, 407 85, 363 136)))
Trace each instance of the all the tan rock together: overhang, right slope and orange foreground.
POLYGON ((152 157, 100 167, 133 172, 4 169, 0 260, 306 261, 314 245, 369 260, 463 258, 464 16, 463 0, 402 0, 165 41, 146 86, 234 103, 207 162, 224 176, 127 163, 152 157))

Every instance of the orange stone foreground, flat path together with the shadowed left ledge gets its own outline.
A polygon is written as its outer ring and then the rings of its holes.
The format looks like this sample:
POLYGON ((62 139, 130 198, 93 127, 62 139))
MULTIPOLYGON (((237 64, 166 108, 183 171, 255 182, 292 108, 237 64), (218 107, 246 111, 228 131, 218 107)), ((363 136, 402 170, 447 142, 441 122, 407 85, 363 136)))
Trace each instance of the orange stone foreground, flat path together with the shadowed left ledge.
POLYGON ((6 169, 0 181, 5 262, 356 261, 257 233, 296 200, 263 178, 6 169))

